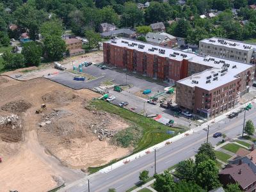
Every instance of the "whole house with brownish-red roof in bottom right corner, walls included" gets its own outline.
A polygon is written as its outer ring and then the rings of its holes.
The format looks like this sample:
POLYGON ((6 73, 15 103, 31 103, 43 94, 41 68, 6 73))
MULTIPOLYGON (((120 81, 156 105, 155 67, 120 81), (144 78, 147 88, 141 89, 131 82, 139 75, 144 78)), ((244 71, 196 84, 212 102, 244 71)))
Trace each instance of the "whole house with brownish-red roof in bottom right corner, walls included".
POLYGON ((255 191, 256 189, 256 175, 245 163, 227 166, 220 172, 219 178, 223 186, 237 183, 242 191, 255 191))

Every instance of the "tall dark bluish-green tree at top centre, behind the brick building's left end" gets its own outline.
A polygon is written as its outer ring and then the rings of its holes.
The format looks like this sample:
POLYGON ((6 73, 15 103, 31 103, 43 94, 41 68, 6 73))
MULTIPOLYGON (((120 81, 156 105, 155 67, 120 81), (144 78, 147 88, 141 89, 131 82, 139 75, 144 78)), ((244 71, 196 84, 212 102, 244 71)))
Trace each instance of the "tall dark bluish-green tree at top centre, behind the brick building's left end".
POLYGON ((124 13, 121 17, 121 25, 124 27, 134 28, 144 24, 144 15, 141 10, 138 9, 135 3, 125 3, 124 13))

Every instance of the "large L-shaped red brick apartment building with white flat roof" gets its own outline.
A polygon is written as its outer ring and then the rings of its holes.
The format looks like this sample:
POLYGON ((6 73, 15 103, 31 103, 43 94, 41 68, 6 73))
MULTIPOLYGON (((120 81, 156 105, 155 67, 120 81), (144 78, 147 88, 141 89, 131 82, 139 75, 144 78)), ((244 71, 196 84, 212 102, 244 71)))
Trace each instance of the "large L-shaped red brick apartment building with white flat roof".
POLYGON ((232 108, 253 83, 255 66, 239 61, 124 38, 104 42, 103 51, 104 63, 176 83, 176 103, 205 117, 232 108))

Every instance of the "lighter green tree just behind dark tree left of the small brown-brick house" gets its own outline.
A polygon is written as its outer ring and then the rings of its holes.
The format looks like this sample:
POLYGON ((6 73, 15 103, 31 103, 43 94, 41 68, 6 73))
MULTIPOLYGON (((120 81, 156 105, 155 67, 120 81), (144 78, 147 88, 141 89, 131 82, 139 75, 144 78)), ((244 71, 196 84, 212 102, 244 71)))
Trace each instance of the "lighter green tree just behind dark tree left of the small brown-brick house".
POLYGON ((63 34, 63 26, 61 20, 53 19, 43 22, 40 28, 40 33, 44 37, 48 35, 61 36, 63 34))

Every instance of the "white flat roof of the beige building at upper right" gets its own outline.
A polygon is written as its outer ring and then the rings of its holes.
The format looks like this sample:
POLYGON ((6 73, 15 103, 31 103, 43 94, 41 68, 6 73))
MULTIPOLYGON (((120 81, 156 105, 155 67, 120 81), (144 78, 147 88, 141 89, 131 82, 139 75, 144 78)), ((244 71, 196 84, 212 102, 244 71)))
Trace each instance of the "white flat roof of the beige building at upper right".
POLYGON ((226 38, 218 38, 218 37, 205 38, 204 40, 200 40, 200 42, 204 42, 212 45, 220 45, 228 48, 235 48, 235 49, 244 50, 244 51, 250 51, 252 49, 256 50, 256 44, 247 44, 245 42, 239 42, 236 40, 230 40, 226 38))

